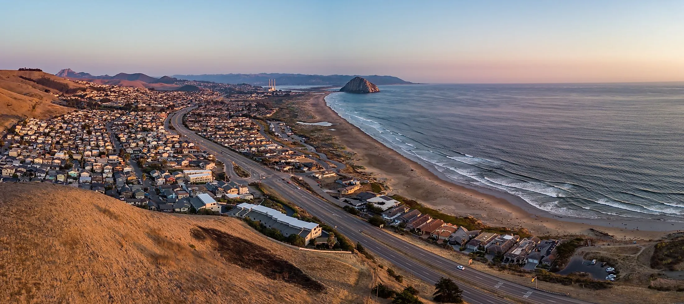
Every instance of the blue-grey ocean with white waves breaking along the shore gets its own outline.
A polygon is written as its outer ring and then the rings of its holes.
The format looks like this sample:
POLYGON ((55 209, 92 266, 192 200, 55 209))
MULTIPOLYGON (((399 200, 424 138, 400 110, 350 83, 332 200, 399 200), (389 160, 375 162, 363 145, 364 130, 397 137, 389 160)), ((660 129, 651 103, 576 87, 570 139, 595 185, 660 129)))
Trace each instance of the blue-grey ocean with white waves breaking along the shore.
POLYGON ((459 184, 556 215, 684 218, 684 83, 385 85, 345 120, 459 184))

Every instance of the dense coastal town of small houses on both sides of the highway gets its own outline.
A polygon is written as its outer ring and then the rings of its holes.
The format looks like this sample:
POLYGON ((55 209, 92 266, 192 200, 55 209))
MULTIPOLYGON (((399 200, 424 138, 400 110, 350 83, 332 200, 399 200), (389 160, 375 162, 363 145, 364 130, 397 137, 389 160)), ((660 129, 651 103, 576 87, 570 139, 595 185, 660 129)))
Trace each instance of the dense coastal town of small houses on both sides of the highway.
MULTIPOLYGON (((222 154, 229 150, 266 170, 287 174, 278 182, 337 204, 369 225, 430 250, 458 253, 468 259, 467 266, 503 267, 554 281, 560 275, 552 272, 574 261, 576 249, 592 246, 588 238, 540 238, 474 219, 445 217, 388 193, 367 175, 341 170, 343 164, 317 152, 306 137, 295 133, 291 122, 274 119, 278 107, 271 98, 284 96, 282 92, 255 93, 250 87, 235 90, 222 85, 209 85, 220 92, 205 87, 165 92, 79 83, 96 88, 64 103, 79 109, 49 120, 22 120, 5 135, 2 182, 73 186, 150 212, 237 217, 271 238, 299 247, 353 247, 334 227, 305 215, 295 206, 300 203, 296 199, 288 203, 265 193, 260 182, 269 175, 226 161, 222 154), (181 109, 189 109, 181 118, 187 130, 226 150, 207 149, 206 143, 176 132, 170 119, 181 109)), ((605 282, 620 280, 614 260, 583 263, 586 266, 579 268, 600 268, 594 269, 592 278, 573 279, 576 283, 571 285, 590 284, 600 290, 610 287, 605 282)))

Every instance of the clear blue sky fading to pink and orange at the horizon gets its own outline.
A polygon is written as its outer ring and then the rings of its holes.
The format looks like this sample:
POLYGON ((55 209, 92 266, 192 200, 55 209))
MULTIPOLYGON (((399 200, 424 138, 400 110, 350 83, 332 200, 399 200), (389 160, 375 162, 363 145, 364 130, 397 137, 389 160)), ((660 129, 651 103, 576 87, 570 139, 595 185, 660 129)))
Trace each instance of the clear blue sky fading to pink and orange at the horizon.
POLYGON ((0 0, 0 69, 684 81, 684 1, 0 0))

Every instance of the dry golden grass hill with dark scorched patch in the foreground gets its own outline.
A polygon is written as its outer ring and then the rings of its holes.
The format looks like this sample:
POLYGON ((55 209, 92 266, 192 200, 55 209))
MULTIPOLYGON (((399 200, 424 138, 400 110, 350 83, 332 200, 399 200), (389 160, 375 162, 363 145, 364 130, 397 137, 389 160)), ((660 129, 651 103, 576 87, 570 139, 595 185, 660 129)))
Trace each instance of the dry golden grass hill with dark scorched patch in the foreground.
POLYGON ((292 249, 238 219, 0 184, 0 303, 371 303, 366 261, 292 249))

